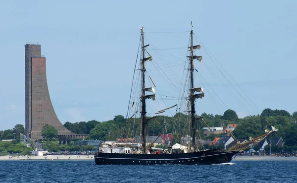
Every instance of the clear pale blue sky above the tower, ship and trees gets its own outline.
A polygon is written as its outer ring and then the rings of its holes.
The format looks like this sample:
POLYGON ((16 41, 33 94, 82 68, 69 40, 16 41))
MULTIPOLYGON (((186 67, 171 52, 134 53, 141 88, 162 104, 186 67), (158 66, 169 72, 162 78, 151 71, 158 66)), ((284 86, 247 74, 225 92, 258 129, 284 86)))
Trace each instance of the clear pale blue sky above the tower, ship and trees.
MULTIPOLYGON (((271 108, 292 114, 297 111, 296 8, 296 0, 1 1, 0 130, 25 124, 27 42, 42 45, 49 93, 60 121, 102 122, 126 116, 139 27, 145 26, 155 47, 178 48, 187 46, 189 33, 152 32, 189 31, 191 21, 198 38, 260 112, 271 108)), ((179 52, 176 57, 184 57, 186 49, 179 52)), ((214 66, 203 57, 203 63, 214 66)), ((209 71, 199 73, 228 109, 239 117, 250 115, 209 71)), ((207 97, 205 92, 199 112, 226 111, 207 97)))

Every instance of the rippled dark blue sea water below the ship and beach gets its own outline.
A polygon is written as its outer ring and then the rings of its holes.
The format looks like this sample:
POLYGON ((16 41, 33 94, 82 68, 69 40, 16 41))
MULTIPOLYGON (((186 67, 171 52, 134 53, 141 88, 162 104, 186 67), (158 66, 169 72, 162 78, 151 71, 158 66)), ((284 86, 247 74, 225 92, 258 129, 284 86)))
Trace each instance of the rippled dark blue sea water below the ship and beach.
POLYGON ((0 183, 297 183, 297 162, 143 166, 79 160, 0 161, 0 183))

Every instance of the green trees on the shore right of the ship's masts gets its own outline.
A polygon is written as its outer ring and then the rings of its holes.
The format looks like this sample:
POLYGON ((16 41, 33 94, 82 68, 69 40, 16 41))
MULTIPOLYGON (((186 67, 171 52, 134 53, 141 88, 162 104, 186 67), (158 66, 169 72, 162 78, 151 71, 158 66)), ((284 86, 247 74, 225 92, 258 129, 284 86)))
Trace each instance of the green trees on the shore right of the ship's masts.
POLYGON ((227 110, 223 116, 213 116, 212 114, 203 114, 203 116, 204 121, 210 124, 210 126, 219 126, 223 127, 223 129, 229 123, 239 124, 233 131, 234 136, 238 139, 248 139, 250 136, 263 135, 265 133, 264 130, 271 130, 273 125, 278 129, 278 132, 269 138, 274 136, 282 137, 286 145, 297 145, 297 112, 290 115, 285 110, 264 109, 261 115, 239 119, 235 111, 227 110))

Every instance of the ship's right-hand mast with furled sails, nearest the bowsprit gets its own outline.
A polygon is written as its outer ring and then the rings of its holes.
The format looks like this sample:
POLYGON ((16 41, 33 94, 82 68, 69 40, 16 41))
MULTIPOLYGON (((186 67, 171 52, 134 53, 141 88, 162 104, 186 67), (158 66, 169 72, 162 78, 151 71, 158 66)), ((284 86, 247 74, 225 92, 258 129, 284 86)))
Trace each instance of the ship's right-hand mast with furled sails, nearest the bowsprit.
MULTIPOLYGON (((192 25, 192 22, 191 22, 192 25)), ((189 60, 190 60, 190 106, 191 106, 191 129, 192 129, 192 143, 193 143, 193 147, 194 147, 194 151, 197 150, 196 148, 196 129, 195 129, 195 122, 196 120, 202 118, 202 117, 195 117, 195 100, 198 98, 202 98, 204 97, 204 93, 203 93, 203 89, 201 87, 199 88, 194 88, 194 60, 198 60, 198 61, 202 61, 202 56, 196 56, 194 55, 194 50, 196 49, 200 49, 201 46, 200 45, 193 45, 193 26, 191 29, 191 33, 190 33, 190 37, 191 37, 191 45, 189 46, 190 49, 190 56, 188 56, 189 60), (195 94, 195 92, 202 92, 202 93, 198 93, 195 94)))

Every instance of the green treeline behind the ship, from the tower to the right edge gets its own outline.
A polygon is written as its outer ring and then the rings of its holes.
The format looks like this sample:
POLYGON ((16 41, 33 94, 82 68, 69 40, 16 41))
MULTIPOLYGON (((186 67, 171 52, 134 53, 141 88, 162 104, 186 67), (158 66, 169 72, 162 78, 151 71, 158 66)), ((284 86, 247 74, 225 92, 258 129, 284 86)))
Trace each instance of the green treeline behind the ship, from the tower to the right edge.
MULTIPOLYGON (((238 118, 233 110, 227 110, 223 115, 202 114, 204 121, 211 127, 226 128, 227 124, 236 123, 238 127, 233 131, 236 138, 256 137, 264 134, 265 129, 271 129, 271 125, 275 126, 279 131, 273 136, 282 137, 288 146, 297 145, 297 112, 292 115, 285 110, 265 109, 261 115, 247 116, 238 118)), ((165 125, 168 133, 174 133, 175 142, 180 142, 181 137, 189 134, 190 122, 189 116, 177 113, 173 117, 157 116, 147 123, 148 135, 159 135, 166 133, 165 125)), ((106 122, 98 122, 92 120, 89 122, 66 122, 64 124, 72 132, 78 134, 90 134, 90 139, 98 140, 117 140, 118 138, 130 138, 140 134, 139 126, 140 119, 128 119, 123 116, 115 116, 113 120, 106 122)), ((204 122, 198 120, 195 128, 198 129, 198 137, 205 140, 212 140, 215 136, 222 134, 203 136, 203 127, 206 127, 204 122)), ((273 137, 271 136, 271 137, 273 137)))

